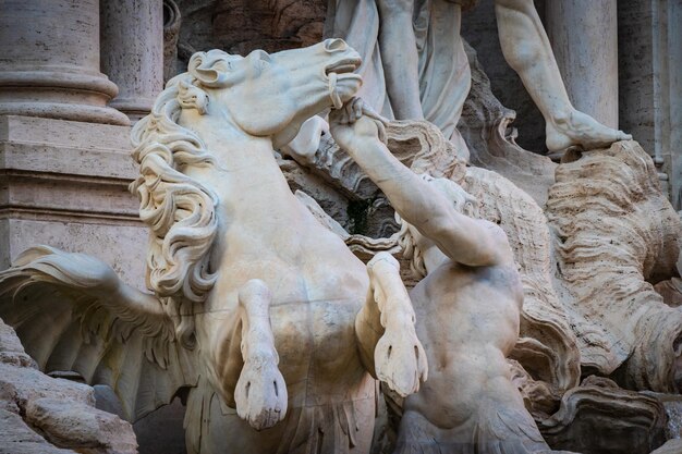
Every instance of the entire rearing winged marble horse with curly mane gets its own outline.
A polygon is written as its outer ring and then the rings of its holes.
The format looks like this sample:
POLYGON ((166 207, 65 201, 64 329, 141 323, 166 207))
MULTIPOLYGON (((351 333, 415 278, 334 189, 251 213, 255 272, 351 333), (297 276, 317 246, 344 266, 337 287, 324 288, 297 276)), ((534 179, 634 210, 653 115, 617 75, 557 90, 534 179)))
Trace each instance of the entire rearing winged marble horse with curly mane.
POLYGON ((340 39, 193 56, 133 130, 147 285, 38 246, 0 273, 0 317, 42 370, 109 384, 137 419, 186 398, 190 453, 368 453, 378 378, 426 379, 388 255, 367 266, 289 189, 273 157, 360 88, 340 39))

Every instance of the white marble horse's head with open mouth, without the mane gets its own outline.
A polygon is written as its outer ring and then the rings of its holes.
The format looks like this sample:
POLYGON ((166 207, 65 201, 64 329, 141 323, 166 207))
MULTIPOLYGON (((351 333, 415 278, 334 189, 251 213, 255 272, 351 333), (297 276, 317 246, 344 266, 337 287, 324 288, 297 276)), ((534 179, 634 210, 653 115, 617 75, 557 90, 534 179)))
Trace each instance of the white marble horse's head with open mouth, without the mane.
POLYGON ((197 52, 187 72, 207 95, 206 113, 228 119, 251 136, 272 137, 277 147, 293 139, 305 120, 340 108, 357 91, 362 78, 353 72, 360 63, 360 54, 343 40, 327 39, 271 54, 197 52))

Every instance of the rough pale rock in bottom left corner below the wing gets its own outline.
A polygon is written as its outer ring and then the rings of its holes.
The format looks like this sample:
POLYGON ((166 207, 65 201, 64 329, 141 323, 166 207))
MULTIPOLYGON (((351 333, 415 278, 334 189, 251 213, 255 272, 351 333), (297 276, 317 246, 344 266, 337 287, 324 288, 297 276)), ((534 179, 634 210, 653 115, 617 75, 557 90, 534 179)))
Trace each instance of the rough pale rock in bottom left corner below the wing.
POLYGON ((132 454, 129 422, 95 408, 93 389, 41 373, 0 319, 0 454, 132 454))

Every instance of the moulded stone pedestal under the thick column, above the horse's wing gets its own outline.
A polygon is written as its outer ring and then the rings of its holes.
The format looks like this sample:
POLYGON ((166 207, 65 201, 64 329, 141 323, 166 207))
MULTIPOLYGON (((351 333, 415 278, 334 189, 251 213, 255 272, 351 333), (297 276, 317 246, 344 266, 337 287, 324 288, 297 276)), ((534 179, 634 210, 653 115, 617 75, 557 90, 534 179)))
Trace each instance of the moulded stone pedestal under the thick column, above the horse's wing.
POLYGON ((145 289, 129 135, 130 126, 0 115, 0 270, 46 244, 99 257, 145 289))

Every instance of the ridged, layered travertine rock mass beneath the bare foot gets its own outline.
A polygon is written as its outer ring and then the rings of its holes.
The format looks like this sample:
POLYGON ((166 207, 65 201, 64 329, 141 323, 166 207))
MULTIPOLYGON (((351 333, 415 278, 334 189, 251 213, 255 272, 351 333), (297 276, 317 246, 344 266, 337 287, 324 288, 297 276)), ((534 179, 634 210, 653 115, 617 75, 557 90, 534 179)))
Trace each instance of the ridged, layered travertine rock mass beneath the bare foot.
POLYGON ((635 142, 564 159, 547 216, 583 373, 675 392, 682 312, 653 284, 678 273, 682 224, 654 162, 635 142))

